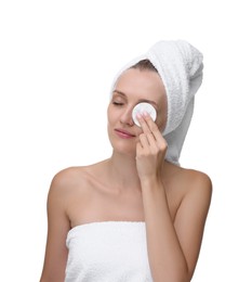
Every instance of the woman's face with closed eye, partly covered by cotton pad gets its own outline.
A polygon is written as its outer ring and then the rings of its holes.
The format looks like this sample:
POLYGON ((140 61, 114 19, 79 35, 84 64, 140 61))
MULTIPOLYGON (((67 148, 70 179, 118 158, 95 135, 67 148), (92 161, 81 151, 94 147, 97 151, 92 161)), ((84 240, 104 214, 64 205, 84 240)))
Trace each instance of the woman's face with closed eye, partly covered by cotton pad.
POLYGON ((130 68, 117 80, 107 110, 108 136, 114 150, 135 154, 142 129, 132 119, 134 106, 150 103, 157 111, 156 124, 162 131, 167 124, 167 94, 156 72, 130 68))

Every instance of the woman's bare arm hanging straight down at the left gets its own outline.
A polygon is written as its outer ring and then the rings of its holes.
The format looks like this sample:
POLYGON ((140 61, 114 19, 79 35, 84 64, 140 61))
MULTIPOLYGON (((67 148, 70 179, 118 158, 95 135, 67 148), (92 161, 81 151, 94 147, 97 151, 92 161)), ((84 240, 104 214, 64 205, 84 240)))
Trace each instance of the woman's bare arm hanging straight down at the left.
POLYGON ((56 175, 48 195, 48 241, 40 282, 63 282, 67 261, 66 236, 70 229, 66 215, 66 181, 56 175))

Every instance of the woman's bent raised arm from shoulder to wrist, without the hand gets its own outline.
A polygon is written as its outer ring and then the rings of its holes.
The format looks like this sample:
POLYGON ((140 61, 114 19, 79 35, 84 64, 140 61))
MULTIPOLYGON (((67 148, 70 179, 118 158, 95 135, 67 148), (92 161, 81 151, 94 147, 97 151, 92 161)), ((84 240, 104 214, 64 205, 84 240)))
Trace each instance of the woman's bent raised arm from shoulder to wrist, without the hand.
MULTIPOLYGON (((195 178, 195 177, 194 177, 195 178)), ((172 221, 162 183, 142 182, 149 262, 155 282, 190 281, 211 198, 211 182, 198 176, 172 221)), ((189 184, 191 185, 191 184, 189 184)))

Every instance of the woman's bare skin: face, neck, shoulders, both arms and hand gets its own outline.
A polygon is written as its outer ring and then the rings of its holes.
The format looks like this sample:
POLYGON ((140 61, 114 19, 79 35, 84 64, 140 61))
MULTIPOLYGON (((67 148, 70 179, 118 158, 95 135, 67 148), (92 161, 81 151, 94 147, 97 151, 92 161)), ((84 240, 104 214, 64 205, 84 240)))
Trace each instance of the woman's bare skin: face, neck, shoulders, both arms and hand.
POLYGON ((48 196, 48 242, 40 282, 64 281, 67 232, 94 221, 145 221, 148 258, 155 282, 190 281, 198 260, 211 202, 210 178, 164 161, 169 144, 167 95, 159 75, 128 69, 108 105, 111 157, 70 167, 52 180, 48 196), (154 123, 131 113, 143 101, 158 113, 154 123), (130 177, 129 177, 130 176, 130 177))

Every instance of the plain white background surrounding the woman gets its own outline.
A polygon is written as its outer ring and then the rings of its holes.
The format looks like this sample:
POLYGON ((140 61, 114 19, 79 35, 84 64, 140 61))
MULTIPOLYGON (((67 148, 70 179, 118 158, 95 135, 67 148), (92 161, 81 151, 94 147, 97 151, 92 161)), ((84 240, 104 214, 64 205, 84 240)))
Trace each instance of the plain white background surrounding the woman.
POLYGON ((52 177, 110 155, 116 72, 160 39, 204 54, 183 166, 213 198, 194 282, 252 281, 250 1, 0 2, 0 281, 39 281, 52 177))

